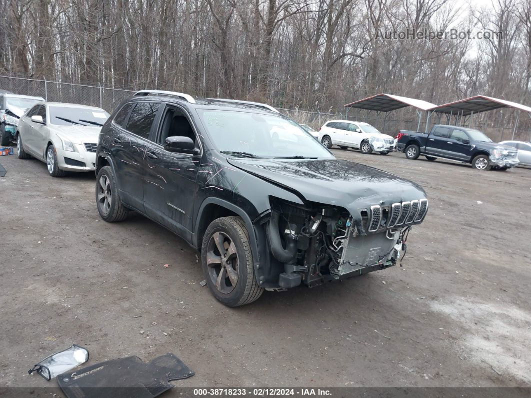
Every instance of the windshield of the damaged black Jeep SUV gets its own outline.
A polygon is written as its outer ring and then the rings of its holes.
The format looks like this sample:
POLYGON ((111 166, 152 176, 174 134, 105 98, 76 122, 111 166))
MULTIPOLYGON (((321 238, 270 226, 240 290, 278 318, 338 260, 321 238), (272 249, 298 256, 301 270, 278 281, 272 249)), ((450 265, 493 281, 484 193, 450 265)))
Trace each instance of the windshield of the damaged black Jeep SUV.
POLYGON ((208 109, 198 112, 210 139, 221 152, 256 157, 334 158, 319 141, 287 118, 208 109))

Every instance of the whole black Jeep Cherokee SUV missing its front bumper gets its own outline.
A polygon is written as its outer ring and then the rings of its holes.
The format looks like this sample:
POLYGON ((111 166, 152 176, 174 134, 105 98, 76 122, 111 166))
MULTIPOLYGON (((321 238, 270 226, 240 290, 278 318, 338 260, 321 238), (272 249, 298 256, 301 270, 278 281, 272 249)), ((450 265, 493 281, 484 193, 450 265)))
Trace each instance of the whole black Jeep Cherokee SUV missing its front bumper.
POLYGON ((134 210, 181 236, 232 307, 395 265, 428 208, 417 184, 336 159, 274 108, 178 92, 118 106, 96 174, 105 221, 134 210))

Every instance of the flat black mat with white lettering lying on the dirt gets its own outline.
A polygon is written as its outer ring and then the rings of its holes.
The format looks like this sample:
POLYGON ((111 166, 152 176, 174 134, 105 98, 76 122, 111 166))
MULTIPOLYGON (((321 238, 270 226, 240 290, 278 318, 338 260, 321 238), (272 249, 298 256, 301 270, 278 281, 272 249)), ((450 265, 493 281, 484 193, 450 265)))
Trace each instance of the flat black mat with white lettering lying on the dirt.
POLYGON ((148 363, 139 357, 126 357, 96 363, 57 377, 68 398, 150 398, 175 387, 171 380, 195 373, 174 354, 161 355, 148 363))

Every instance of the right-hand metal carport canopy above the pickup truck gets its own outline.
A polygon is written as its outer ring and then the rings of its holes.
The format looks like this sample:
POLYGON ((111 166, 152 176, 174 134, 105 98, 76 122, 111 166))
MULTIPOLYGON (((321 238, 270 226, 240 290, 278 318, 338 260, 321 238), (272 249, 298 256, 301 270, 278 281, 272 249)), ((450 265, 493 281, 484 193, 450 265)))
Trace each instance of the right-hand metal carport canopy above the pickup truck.
POLYGON ((487 97, 484 95, 476 95, 474 97, 460 99, 459 101, 453 101, 448 104, 435 106, 429 109, 429 111, 469 116, 473 113, 493 111, 494 109, 505 107, 511 107, 520 109, 520 111, 531 112, 531 107, 529 106, 521 105, 512 101, 507 101, 505 99, 487 97))

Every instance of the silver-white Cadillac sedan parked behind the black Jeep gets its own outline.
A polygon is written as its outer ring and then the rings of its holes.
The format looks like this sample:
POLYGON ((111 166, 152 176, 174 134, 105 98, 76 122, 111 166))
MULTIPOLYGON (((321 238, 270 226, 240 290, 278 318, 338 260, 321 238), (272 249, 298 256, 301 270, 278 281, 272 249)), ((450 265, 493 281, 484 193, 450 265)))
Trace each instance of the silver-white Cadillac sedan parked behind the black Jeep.
POLYGON ((46 162, 48 173, 95 170, 99 132, 109 114, 95 106, 40 102, 20 119, 16 131, 20 159, 46 162))

